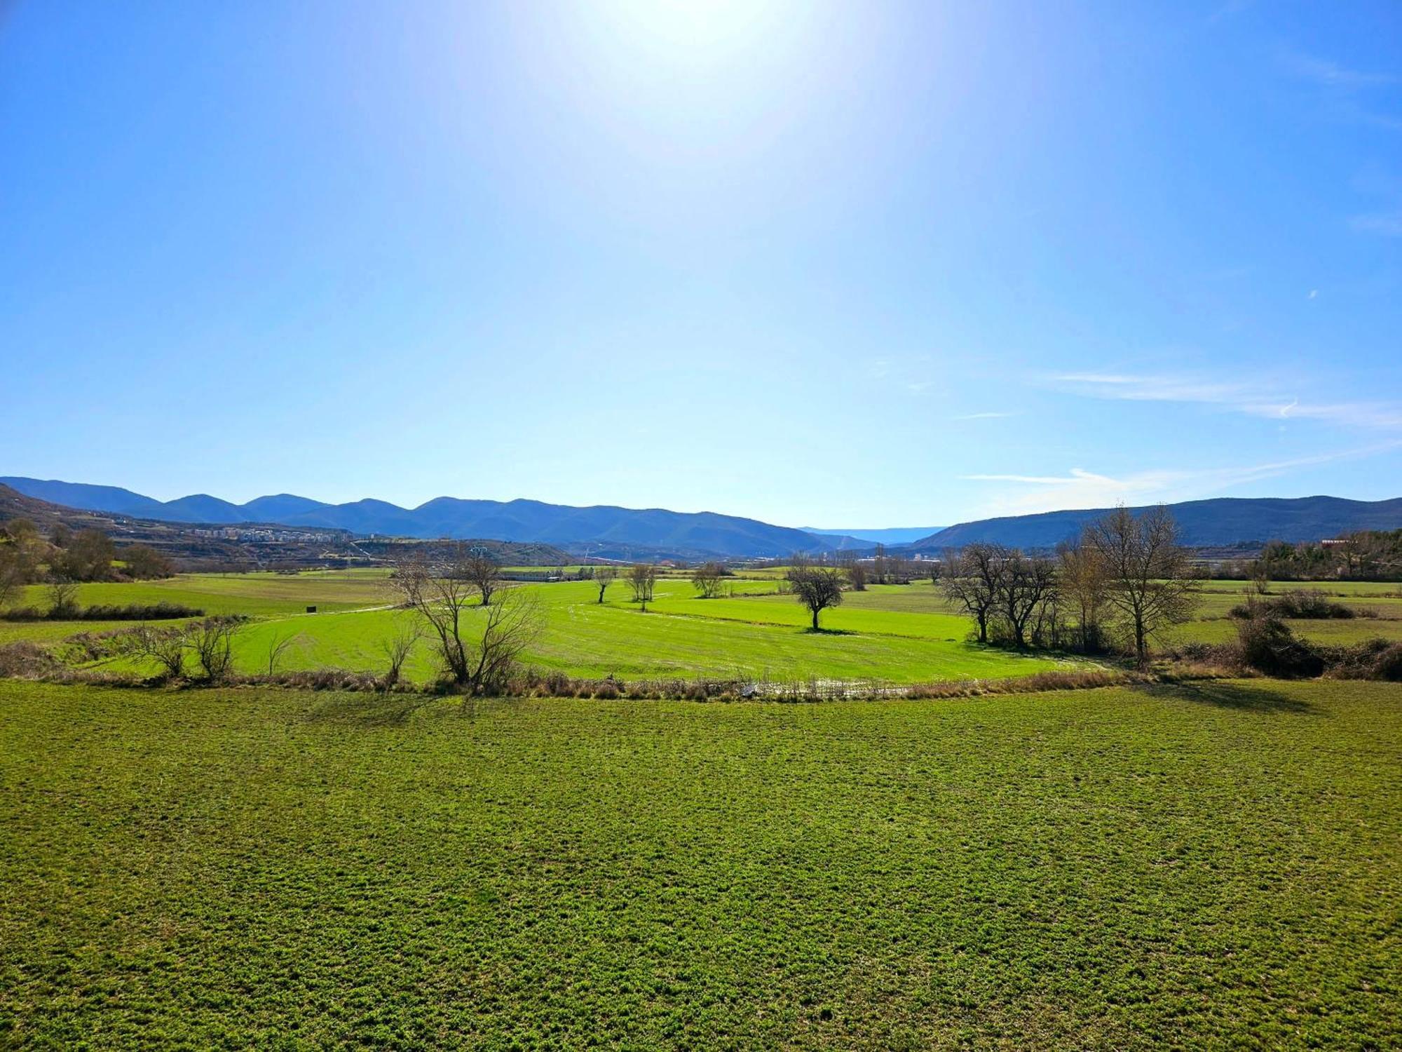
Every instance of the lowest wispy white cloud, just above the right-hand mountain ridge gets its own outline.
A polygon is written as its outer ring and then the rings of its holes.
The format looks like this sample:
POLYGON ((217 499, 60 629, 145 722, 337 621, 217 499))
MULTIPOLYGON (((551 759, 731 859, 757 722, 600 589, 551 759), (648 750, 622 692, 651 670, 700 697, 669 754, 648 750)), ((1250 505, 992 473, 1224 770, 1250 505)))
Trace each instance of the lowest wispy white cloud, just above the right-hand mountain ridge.
POLYGON ((1028 515, 1071 508, 1108 508, 1115 504, 1157 504, 1213 497, 1245 483, 1274 478, 1301 467, 1377 456, 1402 449, 1402 440, 1360 449, 1318 453, 1265 464, 1207 468, 1151 468, 1112 477, 1073 467, 1064 476, 973 474, 963 478, 977 483, 1001 483, 1014 487, 987 508, 993 515, 1028 515))

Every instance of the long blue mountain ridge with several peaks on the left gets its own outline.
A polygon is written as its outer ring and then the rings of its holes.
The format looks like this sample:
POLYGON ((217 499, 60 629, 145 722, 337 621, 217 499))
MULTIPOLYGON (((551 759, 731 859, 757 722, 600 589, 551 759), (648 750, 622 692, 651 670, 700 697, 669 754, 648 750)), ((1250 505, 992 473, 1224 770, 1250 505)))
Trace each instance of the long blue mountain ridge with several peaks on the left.
POLYGON ((481 537, 545 544, 648 547, 679 554, 732 557, 788 555, 869 547, 843 536, 817 536, 715 512, 662 508, 573 508, 543 501, 470 501, 437 497, 418 508, 365 499, 324 504, 294 494, 231 504, 209 494, 157 501, 130 490, 25 477, 0 478, 21 494, 70 508, 165 522, 231 525, 243 522, 318 526, 400 537, 481 537))

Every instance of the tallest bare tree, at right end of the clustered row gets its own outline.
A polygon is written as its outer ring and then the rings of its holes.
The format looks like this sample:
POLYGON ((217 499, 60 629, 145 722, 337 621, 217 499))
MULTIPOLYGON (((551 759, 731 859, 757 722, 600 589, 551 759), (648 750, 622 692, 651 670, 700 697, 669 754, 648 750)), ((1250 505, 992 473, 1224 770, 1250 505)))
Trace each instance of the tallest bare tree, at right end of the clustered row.
POLYGON ((1199 582, 1178 543, 1178 523, 1164 505, 1138 516, 1120 506, 1087 525, 1081 547, 1103 560, 1106 602, 1119 613, 1144 668, 1150 638, 1190 620, 1197 605, 1199 582))

